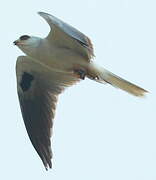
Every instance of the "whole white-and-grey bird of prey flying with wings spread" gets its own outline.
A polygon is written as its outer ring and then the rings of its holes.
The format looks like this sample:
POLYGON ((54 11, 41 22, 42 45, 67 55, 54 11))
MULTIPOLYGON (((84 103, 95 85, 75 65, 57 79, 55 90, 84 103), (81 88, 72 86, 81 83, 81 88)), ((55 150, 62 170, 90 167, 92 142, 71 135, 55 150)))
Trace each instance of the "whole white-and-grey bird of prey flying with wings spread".
POLYGON ((45 38, 22 35, 13 43, 25 55, 16 61, 17 92, 30 141, 46 170, 52 168, 51 136, 58 96, 86 78, 134 96, 148 91, 94 62, 89 37, 55 16, 38 12, 49 24, 45 38))

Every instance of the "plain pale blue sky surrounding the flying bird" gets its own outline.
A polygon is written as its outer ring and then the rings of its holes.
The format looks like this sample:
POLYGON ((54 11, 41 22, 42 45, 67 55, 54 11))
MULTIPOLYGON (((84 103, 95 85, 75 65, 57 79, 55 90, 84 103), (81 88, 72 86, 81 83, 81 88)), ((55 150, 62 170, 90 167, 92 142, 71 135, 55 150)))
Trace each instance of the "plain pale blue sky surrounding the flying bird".
POLYGON ((156 1, 66 0, 1 2, 0 179, 156 179, 156 1), (89 36, 95 61, 150 91, 136 98, 91 80, 59 98, 52 141, 53 169, 45 171, 22 120, 12 42, 45 37, 36 12, 61 18, 89 36))

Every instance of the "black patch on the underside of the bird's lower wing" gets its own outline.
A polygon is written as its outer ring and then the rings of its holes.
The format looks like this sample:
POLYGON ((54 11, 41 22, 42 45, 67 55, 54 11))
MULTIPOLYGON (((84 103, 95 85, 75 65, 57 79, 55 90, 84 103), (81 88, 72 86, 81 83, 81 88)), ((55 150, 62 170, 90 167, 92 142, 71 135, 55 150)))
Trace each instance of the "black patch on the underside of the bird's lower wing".
POLYGON ((34 80, 34 76, 24 72, 22 74, 22 78, 21 78, 21 82, 20 82, 20 86, 22 88, 23 91, 27 91, 29 90, 29 88, 31 87, 31 82, 34 80))

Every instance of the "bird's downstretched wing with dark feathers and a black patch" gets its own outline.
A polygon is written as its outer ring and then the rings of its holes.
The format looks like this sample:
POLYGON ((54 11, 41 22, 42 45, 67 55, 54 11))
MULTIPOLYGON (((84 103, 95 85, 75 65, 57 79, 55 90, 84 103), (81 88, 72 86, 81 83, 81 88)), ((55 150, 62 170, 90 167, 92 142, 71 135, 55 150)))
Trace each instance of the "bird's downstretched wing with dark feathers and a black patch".
POLYGON ((50 137, 57 97, 65 87, 76 83, 78 79, 50 72, 27 56, 18 57, 16 74, 20 107, 29 138, 45 168, 51 168, 50 137))

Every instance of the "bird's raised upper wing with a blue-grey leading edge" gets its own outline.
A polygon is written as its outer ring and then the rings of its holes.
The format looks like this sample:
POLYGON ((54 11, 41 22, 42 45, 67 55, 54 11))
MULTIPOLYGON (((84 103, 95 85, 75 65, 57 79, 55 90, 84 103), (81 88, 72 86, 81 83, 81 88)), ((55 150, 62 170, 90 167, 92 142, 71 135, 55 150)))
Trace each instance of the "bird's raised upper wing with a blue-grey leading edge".
POLYGON ((38 12, 38 14, 47 21, 51 28, 47 39, 53 40, 56 45, 61 47, 74 47, 78 52, 87 55, 89 59, 94 56, 93 45, 86 35, 55 16, 44 12, 38 12))

